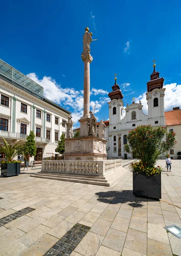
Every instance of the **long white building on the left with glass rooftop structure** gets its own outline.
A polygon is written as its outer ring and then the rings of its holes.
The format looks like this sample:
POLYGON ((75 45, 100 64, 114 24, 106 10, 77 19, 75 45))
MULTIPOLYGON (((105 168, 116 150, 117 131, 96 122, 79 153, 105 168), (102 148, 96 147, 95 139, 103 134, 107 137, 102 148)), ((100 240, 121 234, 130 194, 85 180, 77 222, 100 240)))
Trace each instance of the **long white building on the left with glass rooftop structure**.
MULTIPOLYGON (((55 152, 71 112, 43 96, 43 87, 0 60, 0 145, 3 137, 12 145, 23 144, 34 131, 37 155, 48 159, 55 152)), ((0 152, 0 159, 6 158, 0 152)))

